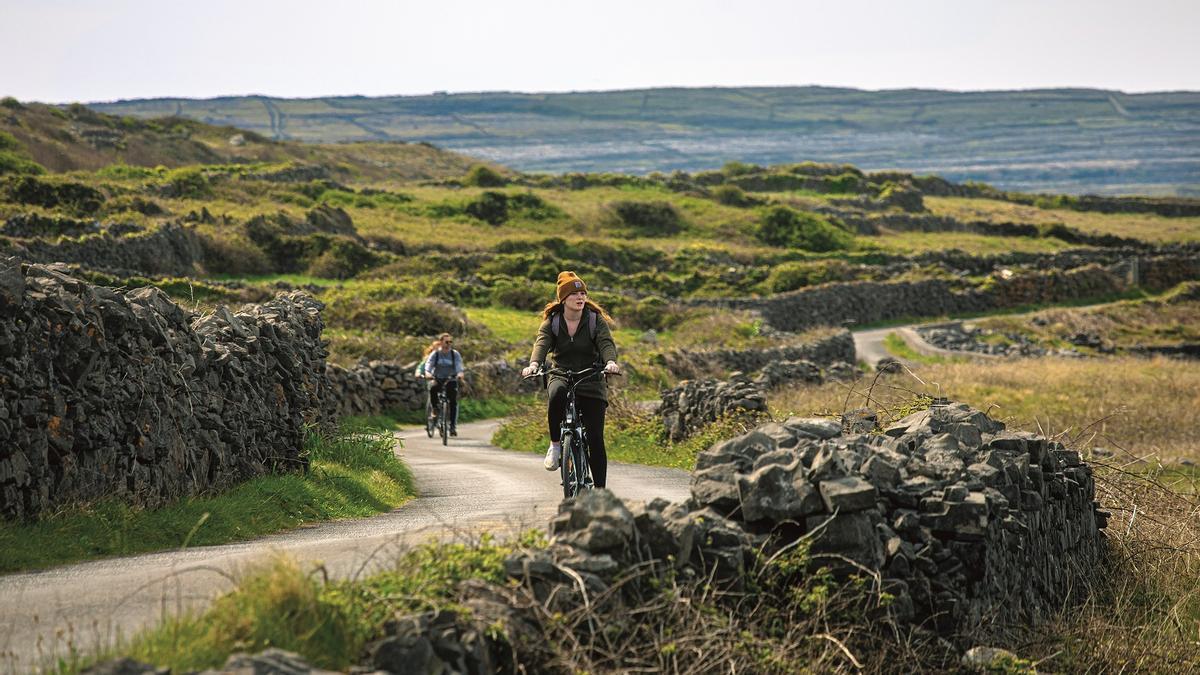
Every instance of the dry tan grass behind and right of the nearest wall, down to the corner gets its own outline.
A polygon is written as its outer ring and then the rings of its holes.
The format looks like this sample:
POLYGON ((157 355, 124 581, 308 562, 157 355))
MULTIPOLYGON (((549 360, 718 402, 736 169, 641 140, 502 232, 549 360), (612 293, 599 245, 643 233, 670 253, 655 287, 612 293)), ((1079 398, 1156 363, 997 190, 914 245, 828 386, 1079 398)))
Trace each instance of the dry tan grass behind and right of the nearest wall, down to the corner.
POLYGON ((1087 598, 1014 647, 1063 673, 1200 671, 1200 364, 1171 359, 940 363, 784 392, 776 416, 860 406, 881 420, 916 394, 985 410, 1009 429, 1057 436, 1096 470, 1112 518, 1109 566, 1087 598), (1103 448, 1102 452, 1093 452, 1103 448))

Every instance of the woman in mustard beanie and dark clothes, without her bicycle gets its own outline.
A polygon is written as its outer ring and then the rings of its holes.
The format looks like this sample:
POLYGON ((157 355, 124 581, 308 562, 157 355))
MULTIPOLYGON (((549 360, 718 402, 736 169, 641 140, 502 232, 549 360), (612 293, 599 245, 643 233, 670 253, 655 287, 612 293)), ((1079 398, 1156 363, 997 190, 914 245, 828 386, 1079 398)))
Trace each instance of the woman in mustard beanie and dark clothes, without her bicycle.
MULTIPOLYGON (((617 344, 608 325, 612 317, 600 305, 588 299, 588 287, 574 271, 558 273, 558 299, 548 303, 541 312, 541 327, 533 345, 529 365, 521 371, 528 377, 538 372, 547 356, 554 368, 583 370, 604 362, 604 371, 619 374, 617 344)), ((546 471, 558 468, 563 446, 559 437, 566 405, 566 378, 551 374, 547 386, 550 405, 546 411, 550 423, 550 448, 542 466, 546 471)), ((608 407, 608 392, 600 377, 586 381, 576 388, 576 405, 588 434, 592 478, 596 488, 605 486, 608 456, 604 447, 604 413, 608 407)))

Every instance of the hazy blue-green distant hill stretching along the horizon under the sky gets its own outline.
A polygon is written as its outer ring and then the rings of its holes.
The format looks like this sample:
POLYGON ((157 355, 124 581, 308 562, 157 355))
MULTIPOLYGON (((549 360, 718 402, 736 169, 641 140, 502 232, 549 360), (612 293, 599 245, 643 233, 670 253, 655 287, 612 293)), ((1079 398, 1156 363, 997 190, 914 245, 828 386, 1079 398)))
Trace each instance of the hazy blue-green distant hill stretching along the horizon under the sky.
POLYGON ((1200 92, 821 86, 92 103, 310 142, 426 141, 522 171, 852 162, 1008 190, 1200 195, 1200 92))

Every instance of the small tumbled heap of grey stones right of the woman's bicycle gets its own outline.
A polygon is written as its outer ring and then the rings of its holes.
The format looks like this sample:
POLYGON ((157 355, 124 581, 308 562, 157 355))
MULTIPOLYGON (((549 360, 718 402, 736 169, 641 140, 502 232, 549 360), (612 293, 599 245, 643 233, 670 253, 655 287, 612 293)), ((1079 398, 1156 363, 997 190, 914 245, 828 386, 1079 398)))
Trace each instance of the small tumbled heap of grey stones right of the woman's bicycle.
POLYGON ((667 438, 682 441, 721 418, 754 418, 767 412, 762 387, 738 374, 730 381, 685 380, 662 392, 659 414, 667 438))

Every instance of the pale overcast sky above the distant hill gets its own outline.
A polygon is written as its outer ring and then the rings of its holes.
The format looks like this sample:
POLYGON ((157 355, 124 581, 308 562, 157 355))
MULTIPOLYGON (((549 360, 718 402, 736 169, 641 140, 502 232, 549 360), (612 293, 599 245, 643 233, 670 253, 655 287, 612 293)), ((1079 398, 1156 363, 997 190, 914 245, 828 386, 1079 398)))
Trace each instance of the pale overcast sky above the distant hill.
POLYGON ((0 0, 20 100, 803 84, 1200 90, 1200 0, 0 0))

